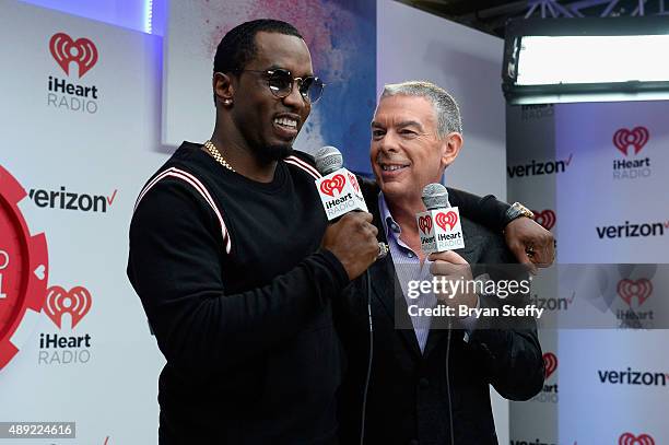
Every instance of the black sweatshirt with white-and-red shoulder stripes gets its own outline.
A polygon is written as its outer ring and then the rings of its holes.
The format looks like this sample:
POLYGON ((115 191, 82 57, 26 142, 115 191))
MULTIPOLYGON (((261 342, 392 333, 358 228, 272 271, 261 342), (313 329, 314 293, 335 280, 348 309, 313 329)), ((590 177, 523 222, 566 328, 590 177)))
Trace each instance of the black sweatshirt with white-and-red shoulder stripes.
MULTIPOLYGON (((185 142, 140 194, 128 277, 167 359, 161 444, 334 441, 342 361, 331 298, 349 280, 319 248, 316 176, 296 152, 257 183, 185 142)), ((463 213, 501 224, 506 207, 481 202, 492 207, 451 194, 463 213)))

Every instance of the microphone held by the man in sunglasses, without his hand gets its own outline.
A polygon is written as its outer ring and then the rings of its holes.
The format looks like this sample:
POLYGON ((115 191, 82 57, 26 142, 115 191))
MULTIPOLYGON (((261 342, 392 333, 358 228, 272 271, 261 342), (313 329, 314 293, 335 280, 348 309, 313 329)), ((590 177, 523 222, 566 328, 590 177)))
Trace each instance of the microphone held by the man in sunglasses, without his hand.
MULTIPOLYGON (((354 174, 343 168, 341 152, 326 145, 314 155, 316 169, 322 175, 316 179, 316 189, 322 202, 328 221, 336 220, 352 211, 367 212, 365 198, 354 174)), ((388 255, 388 245, 378 243, 377 259, 388 255)))

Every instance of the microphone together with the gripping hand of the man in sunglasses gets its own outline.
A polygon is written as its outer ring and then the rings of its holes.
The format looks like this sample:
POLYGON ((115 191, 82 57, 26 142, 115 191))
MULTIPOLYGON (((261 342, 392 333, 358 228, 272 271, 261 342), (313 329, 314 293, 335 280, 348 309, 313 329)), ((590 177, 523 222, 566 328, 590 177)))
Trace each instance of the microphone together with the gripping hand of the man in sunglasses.
MULTIPOLYGON (((343 168, 341 152, 324 147, 316 153, 316 168, 322 175, 316 180, 318 195, 329 221, 322 247, 341 261, 349 278, 361 276, 382 254, 378 230, 362 196, 355 175, 343 168)), ((384 255, 387 247, 384 245, 384 255)))

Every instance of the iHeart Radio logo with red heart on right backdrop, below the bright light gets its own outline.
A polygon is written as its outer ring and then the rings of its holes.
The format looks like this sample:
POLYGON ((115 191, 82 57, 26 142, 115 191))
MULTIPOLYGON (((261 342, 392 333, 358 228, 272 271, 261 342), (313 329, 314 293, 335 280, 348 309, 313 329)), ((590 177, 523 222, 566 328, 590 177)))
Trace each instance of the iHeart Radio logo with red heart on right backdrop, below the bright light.
POLYGON ((648 143, 650 131, 637 126, 620 128, 613 133, 613 145, 625 157, 613 160, 613 179, 636 179, 650 176, 650 157, 638 156, 648 143))

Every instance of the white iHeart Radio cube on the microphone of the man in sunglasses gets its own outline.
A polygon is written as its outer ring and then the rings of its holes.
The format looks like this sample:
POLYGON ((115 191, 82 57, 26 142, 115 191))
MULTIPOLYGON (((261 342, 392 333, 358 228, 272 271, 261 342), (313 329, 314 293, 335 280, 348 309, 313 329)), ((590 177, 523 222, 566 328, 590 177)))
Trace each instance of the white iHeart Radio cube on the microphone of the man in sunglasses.
POLYGON ((355 175, 345 168, 339 168, 316 179, 316 188, 328 221, 353 210, 367 211, 367 204, 365 204, 355 175))

